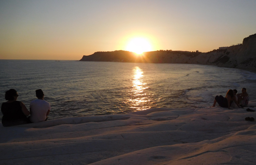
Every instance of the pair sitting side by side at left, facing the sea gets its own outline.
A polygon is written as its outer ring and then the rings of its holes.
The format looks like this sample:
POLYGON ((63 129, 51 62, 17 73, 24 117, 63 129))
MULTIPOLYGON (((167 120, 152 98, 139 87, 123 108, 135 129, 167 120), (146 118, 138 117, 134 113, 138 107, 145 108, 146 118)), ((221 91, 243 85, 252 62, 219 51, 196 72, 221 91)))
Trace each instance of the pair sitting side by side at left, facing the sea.
POLYGON ((30 111, 27 110, 23 102, 17 101, 19 95, 16 90, 10 89, 5 92, 5 100, 8 101, 3 102, 1 106, 4 127, 47 120, 51 105, 44 100, 44 93, 41 89, 35 92, 38 99, 31 101, 30 111))

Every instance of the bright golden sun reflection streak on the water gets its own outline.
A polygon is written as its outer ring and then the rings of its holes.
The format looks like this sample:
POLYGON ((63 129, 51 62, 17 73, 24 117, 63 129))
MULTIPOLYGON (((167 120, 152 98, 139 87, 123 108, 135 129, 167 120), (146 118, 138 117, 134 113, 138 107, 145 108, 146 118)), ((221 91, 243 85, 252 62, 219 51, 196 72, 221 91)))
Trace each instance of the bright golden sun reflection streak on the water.
POLYGON ((140 67, 133 69, 132 84, 132 97, 129 99, 130 108, 136 111, 150 108, 148 104, 150 96, 145 92, 148 86, 143 80, 143 71, 140 67))

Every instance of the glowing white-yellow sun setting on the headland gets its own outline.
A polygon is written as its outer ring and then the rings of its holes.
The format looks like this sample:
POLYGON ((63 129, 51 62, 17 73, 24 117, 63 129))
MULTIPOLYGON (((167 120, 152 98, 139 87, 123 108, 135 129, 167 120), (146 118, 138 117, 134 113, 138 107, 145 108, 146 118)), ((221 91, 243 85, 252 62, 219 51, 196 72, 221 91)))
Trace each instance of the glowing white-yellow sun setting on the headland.
POLYGON ((126 50, 137 54, 142 54, 143 52, 152 51, 152 47, 145 38, 133 38, 127 44, 126 50))

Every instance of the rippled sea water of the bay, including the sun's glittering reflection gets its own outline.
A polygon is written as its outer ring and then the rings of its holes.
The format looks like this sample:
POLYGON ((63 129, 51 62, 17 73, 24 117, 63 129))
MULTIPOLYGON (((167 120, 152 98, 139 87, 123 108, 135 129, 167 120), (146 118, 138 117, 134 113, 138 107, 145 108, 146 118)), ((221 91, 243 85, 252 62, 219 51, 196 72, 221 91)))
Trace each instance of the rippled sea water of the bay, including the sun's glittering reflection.
MULTIPOLYGON (((54 60, 0 60, 0 102, 10 88, 27 108, 44 91, 49 120, 129 113, 148 108, 202 108, 215 95, 247 88, 256 99, 256 74, 241 69, 191 64, 143 64, 54 60)), ((0 114, 2 117, 2 114, 0 114)))

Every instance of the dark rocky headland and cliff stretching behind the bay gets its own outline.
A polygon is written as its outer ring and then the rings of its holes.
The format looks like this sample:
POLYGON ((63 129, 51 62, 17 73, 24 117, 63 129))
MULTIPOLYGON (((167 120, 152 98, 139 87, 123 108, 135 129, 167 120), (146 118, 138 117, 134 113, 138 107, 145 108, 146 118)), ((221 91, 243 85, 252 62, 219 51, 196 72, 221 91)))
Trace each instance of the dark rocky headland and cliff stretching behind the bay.
POLYGON ((244 38, 239 45, 207 53, 187 51, 153 51, 138 56, 129 51, 95 52, 80 61, 116 61, 132 63, 181 63, 216 65, 256 70, 256 34, 244 38))

